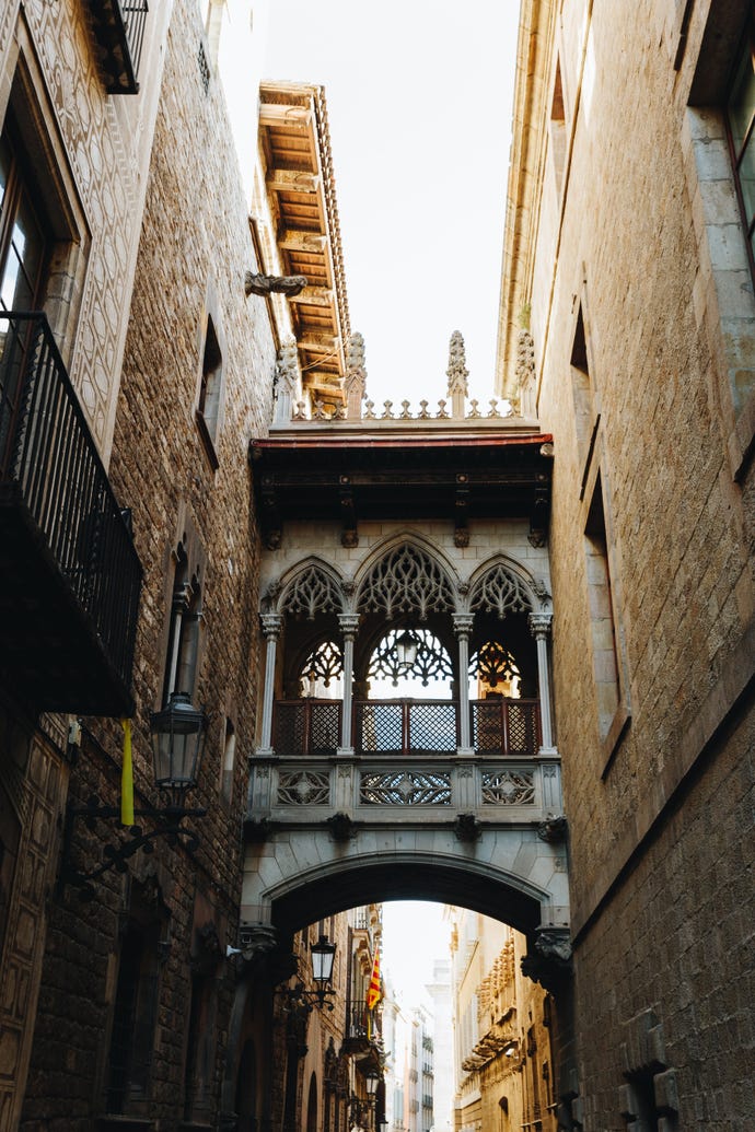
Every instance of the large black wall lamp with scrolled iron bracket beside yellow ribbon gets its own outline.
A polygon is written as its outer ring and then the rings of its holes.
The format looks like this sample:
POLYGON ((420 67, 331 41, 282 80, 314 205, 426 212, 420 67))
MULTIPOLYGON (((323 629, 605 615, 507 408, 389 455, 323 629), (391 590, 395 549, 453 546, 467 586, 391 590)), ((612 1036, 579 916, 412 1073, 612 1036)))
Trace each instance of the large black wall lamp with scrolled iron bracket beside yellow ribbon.
POLYGON ((204 817, 207 813, 199 807, 188 809, 185 805, 186 795, 197 786, 207 735, 207 717, 192 707, 188 695, 173 693, 168 706, 149 717, 149 732, 155 786, 166 796, 168 803, 162 807, 145 806, 135 809, 134 816, 149 818, 153 829, 145 832, 140 825, 131 825, 125 840, 104 844, 101 863, 84 873, 70 859, 75 823, 83 818, 87 829, 94 832, 97 820, 120 820, 121 812, 117 806, 103 806, 96 794, 89 797, 85 806, 69 804, 66 811, 59 884, 61 887, 66 884, 74 885, 81 900, 94 899, 95 887, 92 882, 104 873, 111 869, 125 873, 126 861, 139 849, 153 852, 153 842, 157 838, 168 838, 172 843, 180 841, 188 852, 194 852, 199 846, 199 838, 194 830, 186 829, 181 822, 185 817, 204 817))

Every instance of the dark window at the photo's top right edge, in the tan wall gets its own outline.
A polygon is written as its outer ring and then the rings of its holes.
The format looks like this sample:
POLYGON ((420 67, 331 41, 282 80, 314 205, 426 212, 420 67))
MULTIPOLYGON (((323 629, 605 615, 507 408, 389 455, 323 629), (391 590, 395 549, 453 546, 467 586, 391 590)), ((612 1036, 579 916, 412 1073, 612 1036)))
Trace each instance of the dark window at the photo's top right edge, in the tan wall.
POLYGON ((749 261, 755 273, 755 17, 750 19, 735 67, 727 125, 749 261))

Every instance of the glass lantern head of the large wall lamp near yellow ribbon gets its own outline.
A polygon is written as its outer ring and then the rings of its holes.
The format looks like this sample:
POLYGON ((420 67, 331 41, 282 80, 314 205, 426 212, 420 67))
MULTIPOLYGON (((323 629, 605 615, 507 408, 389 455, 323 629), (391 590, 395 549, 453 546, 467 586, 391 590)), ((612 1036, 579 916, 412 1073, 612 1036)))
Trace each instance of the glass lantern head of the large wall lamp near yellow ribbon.
POLYGON ((155 784, 168 790, 180 808, 187 790, 196 787, 207 735, 207 717, 194 707, 186 692, 173 692, 168 706, 149 718, 155 784))

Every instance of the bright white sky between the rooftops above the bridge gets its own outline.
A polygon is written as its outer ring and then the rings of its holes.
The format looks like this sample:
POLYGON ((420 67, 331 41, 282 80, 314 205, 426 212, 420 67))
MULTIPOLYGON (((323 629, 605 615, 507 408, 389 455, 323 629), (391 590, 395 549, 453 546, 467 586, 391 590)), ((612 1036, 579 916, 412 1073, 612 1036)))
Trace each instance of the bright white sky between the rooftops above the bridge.
POLYGON ((265 78, 325 87, 367 393, 492 397, 518 0, 272 0, 265 78))

